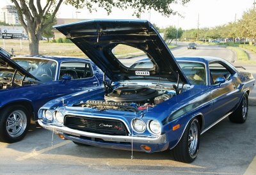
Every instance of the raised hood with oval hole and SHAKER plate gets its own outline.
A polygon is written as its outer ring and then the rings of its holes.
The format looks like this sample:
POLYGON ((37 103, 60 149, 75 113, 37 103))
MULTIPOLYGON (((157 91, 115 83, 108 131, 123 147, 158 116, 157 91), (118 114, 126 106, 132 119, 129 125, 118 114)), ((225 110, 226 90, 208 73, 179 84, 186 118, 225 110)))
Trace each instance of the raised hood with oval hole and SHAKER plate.
POLYGON ((54 27, 72 40, 113 81, 161 77, 188 83, 170 49, 147 20, 86 20, 54 27), (138 73, 138 70, 122 65, 112 53, 118 44, 143 50, 154 68, 138 73))

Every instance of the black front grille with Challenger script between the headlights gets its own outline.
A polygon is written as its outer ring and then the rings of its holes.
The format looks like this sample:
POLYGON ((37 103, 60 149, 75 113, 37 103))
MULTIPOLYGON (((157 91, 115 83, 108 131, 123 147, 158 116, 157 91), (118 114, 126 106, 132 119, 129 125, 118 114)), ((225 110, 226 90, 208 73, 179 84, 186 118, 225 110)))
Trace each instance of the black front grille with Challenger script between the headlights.
POLYGON ((106 135, 128 135, 124 123, 117 119, 67 115, 64 118, 64 126, 75 130, 106 135))

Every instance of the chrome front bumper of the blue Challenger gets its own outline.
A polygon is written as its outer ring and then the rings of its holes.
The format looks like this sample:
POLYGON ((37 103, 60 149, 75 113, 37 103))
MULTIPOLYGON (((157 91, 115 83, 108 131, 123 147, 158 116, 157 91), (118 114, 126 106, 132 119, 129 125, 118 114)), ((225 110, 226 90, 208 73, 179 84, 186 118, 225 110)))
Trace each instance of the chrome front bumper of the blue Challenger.
POLYGON ((56 126, 48 123, 44 123, 42 119, 38 119, 38 123, 40 126, 47 130, 53 130, 55 133, 66 133, 69 135, 74 135, 77 137, 92 137, 102 139, 104 141, 112 141, 112 142, 134 142, 141 144, 163 144, 166 143, 166 134, 163 135, 104 135, 99 133, 90 133, 83 132, 79 130, 74 130, 71 128, 67 128, 66 126, 56 126))

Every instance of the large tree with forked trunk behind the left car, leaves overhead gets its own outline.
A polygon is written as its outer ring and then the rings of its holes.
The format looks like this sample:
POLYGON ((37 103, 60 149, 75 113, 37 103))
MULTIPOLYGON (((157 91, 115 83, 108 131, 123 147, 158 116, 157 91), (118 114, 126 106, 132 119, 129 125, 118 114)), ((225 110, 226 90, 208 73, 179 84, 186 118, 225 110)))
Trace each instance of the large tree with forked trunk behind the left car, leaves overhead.
POLYGON ((18 11, 19 20, 26 33, 29 36, 29 52, 31 55, 38 54, 39 40, 42 36, 42 31, 51 24, 51 21, 56 16, 61 4, 71 4, 76 8, 87 8, 89 11, 96 10, 97 7, 104 8, 108 13, 111 13, 113 7, 134 10, 134 15, 137 17, 145 10, 156 10, 163 15, 170 16, 177 14, 171 8, 171 4, 181 2, 188 3, 190 0, 44 0, 44 6, 41 0, 11 0, 18 11), (51 14, 48 19, 47 15, 51 14), (49 20, 49 22, 47 22, 49 20))

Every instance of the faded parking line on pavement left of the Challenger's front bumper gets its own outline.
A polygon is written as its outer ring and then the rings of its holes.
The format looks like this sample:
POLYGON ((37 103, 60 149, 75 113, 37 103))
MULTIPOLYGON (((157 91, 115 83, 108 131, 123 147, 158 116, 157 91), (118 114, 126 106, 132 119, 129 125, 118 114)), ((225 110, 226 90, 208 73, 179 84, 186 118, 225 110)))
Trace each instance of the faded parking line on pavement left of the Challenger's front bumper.
POLYGON ((17 161, 22 161, 22 160, 26 160, 26 159, 28 159, 28 158, 31 158, 31 157, 33 157, 33 156, 38 156, 38 155, 40 155, 40 154, 42 154, 42 153, 45 153, 45 152, 47 152, 47 151, 50 151, 50 150, 52 150, 52 149, 55 149, 55 148, 59 148, 59 147, 61 147, 61 146, 64 146, 65 144, 68 144, 68 143, 70 143, 71 141, 63 141, 63 142, 60 142, 59 144, 55 144, 55 145, 53 145, 53 146, 49 146, 48 148, 44 148, 44 149, 41 149, 41 150, 39 150, 39 151, 33 151, 33 152, 31 152, 31 153, 29 153, 28 155, 24 155, 24 156, 20 156, 19 158, 16 158, 15 160, 17 160, 17 161))

